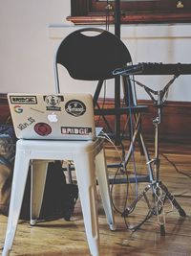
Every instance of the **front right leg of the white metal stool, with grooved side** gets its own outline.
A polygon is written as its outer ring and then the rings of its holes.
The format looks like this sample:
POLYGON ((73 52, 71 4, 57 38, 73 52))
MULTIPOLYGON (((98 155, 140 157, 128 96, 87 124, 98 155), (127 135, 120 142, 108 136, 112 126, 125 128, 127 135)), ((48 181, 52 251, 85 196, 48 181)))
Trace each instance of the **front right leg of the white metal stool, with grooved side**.
POLYGON ((96 170, 92 153, 74 158, 77 185, 81 201, 86 236, 91 254, 99 256, 99 233, 96 211, 96 170))

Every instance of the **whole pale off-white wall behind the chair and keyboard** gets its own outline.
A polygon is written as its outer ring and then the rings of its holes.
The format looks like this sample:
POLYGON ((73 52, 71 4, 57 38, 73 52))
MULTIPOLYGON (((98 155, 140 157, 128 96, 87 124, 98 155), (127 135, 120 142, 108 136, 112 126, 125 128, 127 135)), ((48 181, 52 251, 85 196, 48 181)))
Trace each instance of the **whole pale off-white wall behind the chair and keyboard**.
MULTIPOLYGON (((0 92, 53 92, 53 55, 60 40, 76 29, 66 21, 69 0, 0 0, 0 92)), ((79 27, 77 27, 79 28, 79 27)), ((113 28, 111 27, 111 31, 113 28)), ((122 26, 121 38, 134 63, 191 63, 191 24, 122 26)), ((153 89, 169 76, 139 76, 153 89)), ((168 100, 191 102, 191 76, 181 76, 170 88, 168 100)), ((61 91, 94 92, 95 82, 74 81, 62 70, 61 91)), ((107 97, 114 96, 113 85, 107 97)), ((138 88, 138 99, 149 99, 138 88)))

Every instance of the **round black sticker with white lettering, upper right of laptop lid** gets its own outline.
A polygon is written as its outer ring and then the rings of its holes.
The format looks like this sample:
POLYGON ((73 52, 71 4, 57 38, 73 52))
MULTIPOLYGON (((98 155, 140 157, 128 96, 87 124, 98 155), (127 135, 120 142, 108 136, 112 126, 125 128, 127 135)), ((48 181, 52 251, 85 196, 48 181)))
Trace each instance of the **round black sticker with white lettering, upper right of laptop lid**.
POLYGON ((78 100, 71 100, 65 105, 66 112, 73 116, 82 116, 86 112, 86 105, 78 100))

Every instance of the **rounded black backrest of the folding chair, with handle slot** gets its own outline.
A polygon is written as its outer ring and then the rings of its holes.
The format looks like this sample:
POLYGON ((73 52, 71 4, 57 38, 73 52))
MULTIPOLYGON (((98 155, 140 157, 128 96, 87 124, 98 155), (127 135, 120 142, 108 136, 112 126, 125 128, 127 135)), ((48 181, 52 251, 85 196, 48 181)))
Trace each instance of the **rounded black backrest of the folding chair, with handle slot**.
POLYGON ((113 71, 131 62, 124 43, 101 29, 81 29, 68 35, 59 45, 56 64, 63 65, 76 80, 101 81, 114 78, 113 71), (96 32, 96 35, 87 35, 96 32))

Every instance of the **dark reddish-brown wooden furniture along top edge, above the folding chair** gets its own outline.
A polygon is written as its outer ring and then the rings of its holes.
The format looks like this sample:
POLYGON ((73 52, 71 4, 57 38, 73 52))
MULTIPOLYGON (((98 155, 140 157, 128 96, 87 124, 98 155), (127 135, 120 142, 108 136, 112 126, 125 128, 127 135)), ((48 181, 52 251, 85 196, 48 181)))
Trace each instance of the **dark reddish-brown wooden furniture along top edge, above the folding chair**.
MULTIPOLYGON (((121 23, 187 23, 191 22, 190 0, 122 1, 121 23)), ((67 20, 74 24, 104 24, 109 12, 110 23, 115 22, 115 1, 71 0, 71 15, 67 20)))

